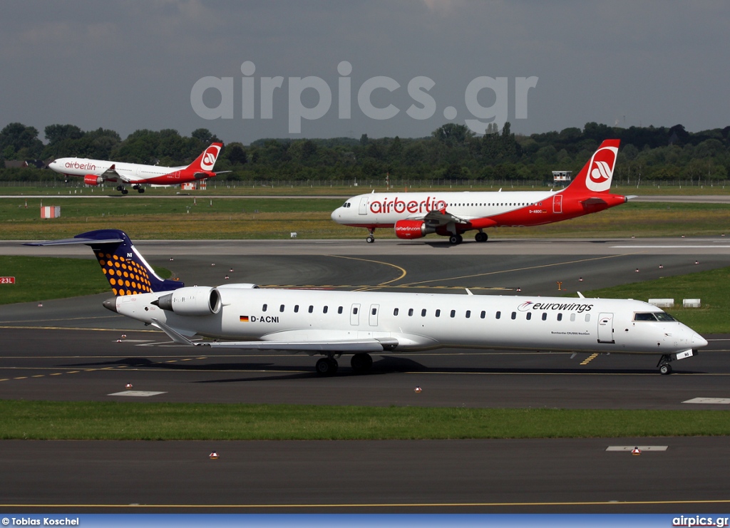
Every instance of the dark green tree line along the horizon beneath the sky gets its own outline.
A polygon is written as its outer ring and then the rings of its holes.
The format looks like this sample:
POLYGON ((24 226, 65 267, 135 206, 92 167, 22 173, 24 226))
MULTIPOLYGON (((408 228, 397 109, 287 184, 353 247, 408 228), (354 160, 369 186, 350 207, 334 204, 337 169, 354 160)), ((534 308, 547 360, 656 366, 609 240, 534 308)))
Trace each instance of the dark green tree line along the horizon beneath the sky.
MULTIPOLYGON (((512 133, 491 125, 477 136, 464 125, 447 123, 423 138, 258 139, 226 144, 215 169, 237 180, 534 180, 552 181, 551 171, 574 174, 604 139, 621 139, 616 175, 629 182, 684 179, 725 180, 730 170, 730 126, 688 132, 683 125, 610 127, 586 123, 583 129, 512 133)), ((126 139, 99 128, 48 125, 39 131, 10 123, 0 131, 0 179, 39 179, 36 168, 2 168, 5 160, 77 157, 180 166, 207 145, 220 141, 205 128, 182 136, 175 130, 138 130, 126 139)))

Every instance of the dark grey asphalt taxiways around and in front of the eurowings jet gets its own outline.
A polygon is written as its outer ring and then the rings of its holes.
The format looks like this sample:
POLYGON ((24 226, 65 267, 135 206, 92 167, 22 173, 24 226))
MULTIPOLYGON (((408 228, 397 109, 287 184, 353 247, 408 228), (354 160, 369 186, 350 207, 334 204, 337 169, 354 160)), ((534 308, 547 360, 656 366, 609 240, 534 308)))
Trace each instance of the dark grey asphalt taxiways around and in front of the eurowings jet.
MULTIPOLYGON (((221 284, 228 275, 227 282, 267 286, 453 295, 465 295, 465 287, 476 295, 516 295, 518 289, 519 295, 554 295, 558 282, 573 293, 730 264, 729 241, 721 237, 460 246, 428 240, 136 245, 151 264, 172 269, 187 284, 221 284)), ((18 253, 91 258, 85 246, 0 244, 0 254, 18 253)), ((109 296, 0 306, 0 398, 698 410, 725 410, 727 403, 706 398, 730 398, 730 346, 722 335, 709 336, 710 346, 698 357, 674 362, 672 376, 658 375, 658 357, 589 360, 587 354, 445 349, 374 357, 372 373, 364 376, 354 375, 342 357, 341 375, 319 378, 315 358, 304 355, 192 354, 163 333, 105 310, 101 302, 109 296), (125 392, 126 383, 159 394, 112 396, 125 392), (415 393, 415 386, 423 392, 415 393), (697 398, 704 403, 688 403, 697 398)), ((726 467, 718 463, 730 454, 727 438, 215 446, 6 440, 1 446, 4 511, 147 505, 154 511, 689 513, 730 505, 726 467), (668 449, 641 457, 606 451, 631 444, 668 449), (212 449, 220 459, 207 458, 212 449)))

